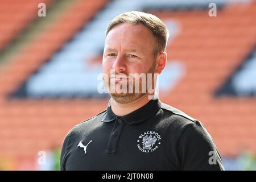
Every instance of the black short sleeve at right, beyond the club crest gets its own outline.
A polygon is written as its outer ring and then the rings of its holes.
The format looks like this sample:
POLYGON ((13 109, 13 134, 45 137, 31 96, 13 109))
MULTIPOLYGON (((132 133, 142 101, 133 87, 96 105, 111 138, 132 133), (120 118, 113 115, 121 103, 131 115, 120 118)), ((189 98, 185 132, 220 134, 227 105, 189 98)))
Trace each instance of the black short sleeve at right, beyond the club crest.
POLYGON ((212 137, 199 121, 185 127, 177 152, 181 170, 224 170, 212 137))

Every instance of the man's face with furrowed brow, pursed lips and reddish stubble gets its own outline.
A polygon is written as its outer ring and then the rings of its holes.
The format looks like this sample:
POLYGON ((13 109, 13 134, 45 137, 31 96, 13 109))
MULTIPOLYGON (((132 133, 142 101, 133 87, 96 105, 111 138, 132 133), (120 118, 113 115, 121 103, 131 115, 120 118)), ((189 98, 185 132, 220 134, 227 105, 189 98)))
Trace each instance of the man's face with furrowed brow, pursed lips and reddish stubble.
POLYGON ((104 75, 104 85, 109 90, 110 96, 118 103, 129 103, 144 96, 141 86, 146 86, 139 82, 139 92, 135 92, 134 73, 154 73, 155 71, 155 37, 147 27, 142 24, 133 25, 122 23, 115 26, 106 36, 102 68, 104 75), (110 71, 112 74, 110 74, 110 71), (131 74, 133 73, 133 74, 131 74), (124 78, 126 77, 126 78, 124 78), (127 87, 126 93, 119 93, 114 90, 110 92, 110 87, 127 87), (133 92, 129 91, 129 86, 133 92))

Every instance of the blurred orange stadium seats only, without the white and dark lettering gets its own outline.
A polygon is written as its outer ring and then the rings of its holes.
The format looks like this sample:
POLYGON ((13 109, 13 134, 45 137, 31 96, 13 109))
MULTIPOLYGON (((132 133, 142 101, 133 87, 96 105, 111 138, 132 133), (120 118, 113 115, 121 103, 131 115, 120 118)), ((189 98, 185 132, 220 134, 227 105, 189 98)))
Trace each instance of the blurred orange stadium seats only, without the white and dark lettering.
MULTIPOLYGON (((0 21, 8 24, 0 27, 0 35, 6 35, 0 36, 0 51, 35 19, 37 6, 28 3, 26 9, 19 10, 20 2, 11 2, 13 8, 6 10, 9 5, 0 1, 0 21), (23 19, 16 20, 16 10, 23 14, 23 19)), ((52 145, 60 147, 74 125, 105 109, 106 98, 18 100, 8 96, 106 3, 107 0, 74 1, 0 70, 0 156, 10 154, 19 163, 27 161, 28 166, 36 168, 38 151, 48 150, 52 145)), ((167 47, 167 53, 170 60, 185 65, 186 74, 174 89, 160 95, 160 100, 202 121, 222 155, 235 156, 241 146, 256 154, 256 98, 214 97, 214 92, 255 46, 256 3, 226 6, 218 11, 217 18, 210 18, 205 11, 150 13, 162 19, 176 19, 183 27, 167 47)))

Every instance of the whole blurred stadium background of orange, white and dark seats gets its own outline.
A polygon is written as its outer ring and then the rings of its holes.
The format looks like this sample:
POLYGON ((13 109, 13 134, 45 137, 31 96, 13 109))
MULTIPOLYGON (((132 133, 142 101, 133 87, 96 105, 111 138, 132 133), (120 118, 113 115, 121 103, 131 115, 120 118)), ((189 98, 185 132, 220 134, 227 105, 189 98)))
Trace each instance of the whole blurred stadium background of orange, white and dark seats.
POLYGON ((170 29, 160 100, 204 123, 226 169, 256 169, 255 1, 0 0, 1 170, 59 169, 65 134, 106 108, 104 31, 130 10, 170 29))

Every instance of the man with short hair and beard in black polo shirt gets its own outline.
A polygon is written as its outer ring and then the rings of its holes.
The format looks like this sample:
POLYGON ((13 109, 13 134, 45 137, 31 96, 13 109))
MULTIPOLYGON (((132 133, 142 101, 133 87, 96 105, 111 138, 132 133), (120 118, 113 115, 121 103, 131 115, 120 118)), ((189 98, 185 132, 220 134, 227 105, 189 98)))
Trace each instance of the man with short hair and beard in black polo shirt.
POLYGON ((166 65, 168 36, 165 24, 147 13, 131 11, 110 22, 102 60, 109 105, 69 131, 62 170, 224 169, 201 122, 155 94, 151 75, 166 65), (138 75, 150 76, 145 82, 138 75))

